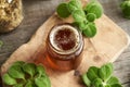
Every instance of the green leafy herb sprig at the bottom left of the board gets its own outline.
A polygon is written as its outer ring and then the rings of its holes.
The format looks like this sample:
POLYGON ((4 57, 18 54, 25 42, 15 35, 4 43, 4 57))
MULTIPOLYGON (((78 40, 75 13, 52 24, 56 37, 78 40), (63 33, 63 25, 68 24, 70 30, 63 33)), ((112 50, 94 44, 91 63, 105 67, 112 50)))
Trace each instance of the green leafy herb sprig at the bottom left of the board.
POLYGON ((5 85, 12 87, 51 87, 49 76, 42 65, 17 61, 2 76, 5 85))

